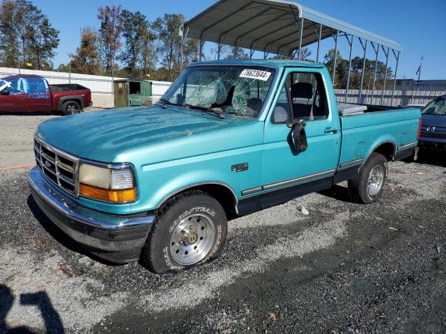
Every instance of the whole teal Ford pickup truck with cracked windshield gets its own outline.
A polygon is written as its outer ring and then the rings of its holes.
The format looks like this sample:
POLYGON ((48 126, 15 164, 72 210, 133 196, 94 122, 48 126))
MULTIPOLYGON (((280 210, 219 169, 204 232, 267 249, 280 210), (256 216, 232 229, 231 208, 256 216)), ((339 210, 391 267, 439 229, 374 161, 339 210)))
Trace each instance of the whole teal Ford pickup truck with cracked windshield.
POLYGON ((157 273, 217 257, 228 216, 348 180, 380 198, 387 161, 413 154, 419 109, 339 108, 324 65, 194 63, 154 106, 41 123, 33 198, 68 236, 157 273))

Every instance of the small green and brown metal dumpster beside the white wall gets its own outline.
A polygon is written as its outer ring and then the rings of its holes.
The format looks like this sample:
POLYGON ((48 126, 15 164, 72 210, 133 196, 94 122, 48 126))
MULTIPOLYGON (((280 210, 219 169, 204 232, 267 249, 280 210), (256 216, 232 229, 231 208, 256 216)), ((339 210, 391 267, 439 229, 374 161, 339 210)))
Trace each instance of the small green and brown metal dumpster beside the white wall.
POLYGON ((114 106, 142 106, 152 101, 152 82, 148 80, 115 80, 114 106))

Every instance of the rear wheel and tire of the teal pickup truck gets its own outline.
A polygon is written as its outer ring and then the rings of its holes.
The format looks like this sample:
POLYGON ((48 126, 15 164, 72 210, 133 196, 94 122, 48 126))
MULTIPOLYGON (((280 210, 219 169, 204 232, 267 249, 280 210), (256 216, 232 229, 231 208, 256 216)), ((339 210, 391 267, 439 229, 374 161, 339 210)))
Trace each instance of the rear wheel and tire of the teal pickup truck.
POLYGON ((383 154, 372 153, 359 175, 348 180, 348 195, 355 202, 376 202, 383 194, 387 178, 387 160, 383 154))

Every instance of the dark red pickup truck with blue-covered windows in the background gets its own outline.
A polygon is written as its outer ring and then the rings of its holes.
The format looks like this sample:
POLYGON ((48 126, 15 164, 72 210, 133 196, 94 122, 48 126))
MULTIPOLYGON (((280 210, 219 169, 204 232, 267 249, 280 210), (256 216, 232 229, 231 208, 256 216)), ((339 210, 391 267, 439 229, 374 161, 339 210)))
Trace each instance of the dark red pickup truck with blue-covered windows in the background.
POLYGON ((0 111, 58 111, 79 113, 92 106, 91 91, 78 84, 49 85, 38 75, 15 75, 0 79, 0 111))

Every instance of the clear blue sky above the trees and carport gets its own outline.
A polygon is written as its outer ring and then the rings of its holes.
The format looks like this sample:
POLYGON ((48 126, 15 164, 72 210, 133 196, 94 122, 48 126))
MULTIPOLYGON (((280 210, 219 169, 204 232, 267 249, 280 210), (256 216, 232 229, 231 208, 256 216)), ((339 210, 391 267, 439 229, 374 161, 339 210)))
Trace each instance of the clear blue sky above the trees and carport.
MULTIPOLYGON (((79 45, 80 30, 84 26, 99 27, 97 8, 121 4, 128 10, 144 13, 149 20, 164 13, 183 13, 190 19, 216 0, 164 1, 105 1, 105 0, 33 0, 60 31, 60 45, 54 59, 57 66, 67 63, 68 53, 79 45)), ((424 56, 421 79, 446 79, 446 0, 298 0, 298 3, 336 17, 363 29, 383 35, 403 45, 398 77, 414 78, 421 56, 424 56)), ((357 45, 359 43, 356 43, 357 45)), ((326 40, 323 55, 334 47, 326 40)), ((346 45, 341 44, 342 56, 348 58, 346 45)), ((355 55, 361 56, 359 49, 355 55)), ((367 54, 373 58, 373 54, 367 54)), ((383 53, 381 52, 381 56, 383 53)), ((393 61, 393 58, 390 58, 393 61)), ((385 58, 380 58, 385 61, 385 58)), ((394 67, 394 62, 389 65, 394 67)))

